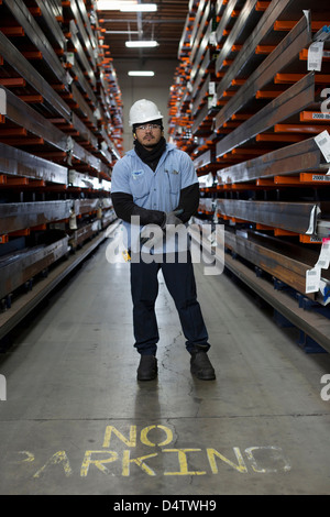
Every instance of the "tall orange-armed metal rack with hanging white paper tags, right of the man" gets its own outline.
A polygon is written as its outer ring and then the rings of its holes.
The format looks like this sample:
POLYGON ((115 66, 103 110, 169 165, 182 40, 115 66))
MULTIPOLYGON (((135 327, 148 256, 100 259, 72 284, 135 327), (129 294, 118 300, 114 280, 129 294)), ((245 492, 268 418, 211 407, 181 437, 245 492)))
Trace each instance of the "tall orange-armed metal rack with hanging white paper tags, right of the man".
POLYGON ((169 111, 200 177, 196 221, 224 224, 226 266, 330 350, 327 261, 307 288, 330 235, 330 156, 317 139, 330 129, 328 3, 209 0, 202 12, 190 2, 185 88, 173 87, 169 111), (308 67, 315 42, 319 68, 308 67))

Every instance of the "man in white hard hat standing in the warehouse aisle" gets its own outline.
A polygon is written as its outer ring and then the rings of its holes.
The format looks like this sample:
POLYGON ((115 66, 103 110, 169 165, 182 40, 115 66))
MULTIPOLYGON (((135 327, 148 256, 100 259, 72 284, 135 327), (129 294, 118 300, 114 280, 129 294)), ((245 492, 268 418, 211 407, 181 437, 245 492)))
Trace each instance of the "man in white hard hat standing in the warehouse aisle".
POLYGON ((186 349, 190 353, 190 372, 200 380, 215 380, 215 369, 207 355, 210 344, 197 300, 190 251, 186 251, 186 260, 180 260, 175 240, 176 230, 189 221, 199 205, 195 166, 187 153, 166 142, 163 116, 153 101, 141 99, 134 102, 129 123, 134 148, 113 167, 111 197, 114 211, 128 230, 130 252, 134 254, 130 267, 134 346, 141 355, 138 381, 157 376, 160 336, 155 301, 160 270, 179 315, 186 349), (139 222, 139 242, 134 243, 133 218, 139 222), (169 238, 167 229, 175 229, 172 235, 168 232, 169 238), (158 235, 158 242, 151 235, 158 235))

